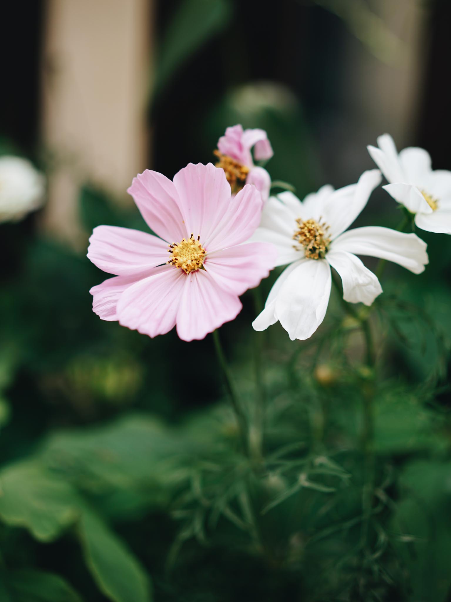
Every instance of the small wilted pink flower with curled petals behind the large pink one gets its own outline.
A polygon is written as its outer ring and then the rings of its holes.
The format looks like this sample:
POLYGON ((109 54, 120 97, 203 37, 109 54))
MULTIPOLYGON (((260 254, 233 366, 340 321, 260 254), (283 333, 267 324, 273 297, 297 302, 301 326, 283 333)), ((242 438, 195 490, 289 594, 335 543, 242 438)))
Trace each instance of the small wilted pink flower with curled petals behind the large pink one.
POLYGON ((251 149, 254 147, 254 159, 265 161, 271 159, 271 143, 264 129, 243 129, 241 125, 233 125, 225 130, 225 135, 218 140, 219 158, 216 167, 221 167, 232 192, 238 192, 243 185, 254 184, 262 193, 262 199, 268 200, 271 178, 263 167, 254 166, 251 149))

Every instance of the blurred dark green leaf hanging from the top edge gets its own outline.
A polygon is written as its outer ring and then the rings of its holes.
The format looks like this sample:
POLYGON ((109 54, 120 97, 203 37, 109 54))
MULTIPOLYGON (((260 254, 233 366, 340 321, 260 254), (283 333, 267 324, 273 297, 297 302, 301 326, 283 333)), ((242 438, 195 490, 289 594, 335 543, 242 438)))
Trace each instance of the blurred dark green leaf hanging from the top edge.
POLYGON ((225 29, 232 16, 228 0, 182 0, 162 40, 155 95, 161 93, 186 60, 207 40, 225 29))

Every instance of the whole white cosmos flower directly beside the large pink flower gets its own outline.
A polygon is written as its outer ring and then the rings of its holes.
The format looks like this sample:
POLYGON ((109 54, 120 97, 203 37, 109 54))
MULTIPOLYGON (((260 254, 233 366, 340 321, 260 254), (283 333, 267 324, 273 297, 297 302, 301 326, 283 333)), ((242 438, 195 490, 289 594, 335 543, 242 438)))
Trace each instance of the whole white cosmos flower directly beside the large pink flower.
POLYGON ((428 263, 426 243, 416 234, 366 226, 345 232, 381 181, 371 170, 357 184, 334 190, 323 186, 301 202, 293 193, 271 197, 252 240, 270 242, 277 265, 290 264, 272 287, 265 309, 253 322, 265 330, 280 321, 291 340, 304 340, 324 320, 331 290, 331 267, 343 283, 343 298, 371 305, 382 293, 376 276, 354 255, 388 259, 419 274, 428 263))

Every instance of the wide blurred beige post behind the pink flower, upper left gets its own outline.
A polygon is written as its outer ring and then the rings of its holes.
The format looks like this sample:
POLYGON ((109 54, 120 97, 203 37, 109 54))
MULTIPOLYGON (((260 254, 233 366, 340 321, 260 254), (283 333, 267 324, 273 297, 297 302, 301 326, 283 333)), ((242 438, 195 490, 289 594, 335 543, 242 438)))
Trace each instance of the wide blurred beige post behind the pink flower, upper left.
POLYGON ((124 197, 147 167, 151 0, 48 0, 42 69, 46 231, 81 243, 79 185, 124 197))

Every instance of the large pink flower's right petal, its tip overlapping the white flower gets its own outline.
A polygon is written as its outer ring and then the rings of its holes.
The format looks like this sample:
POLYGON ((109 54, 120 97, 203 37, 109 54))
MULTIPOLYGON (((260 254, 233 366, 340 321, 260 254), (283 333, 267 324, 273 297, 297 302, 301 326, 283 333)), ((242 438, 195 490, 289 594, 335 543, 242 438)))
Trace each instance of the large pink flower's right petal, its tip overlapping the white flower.
POLYGON ((277 260, 277 249, 267 243, 247 243, 213 253, 204 267, 219 287, 242 295, 267 278, 277 260))

